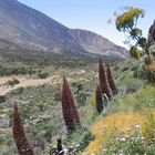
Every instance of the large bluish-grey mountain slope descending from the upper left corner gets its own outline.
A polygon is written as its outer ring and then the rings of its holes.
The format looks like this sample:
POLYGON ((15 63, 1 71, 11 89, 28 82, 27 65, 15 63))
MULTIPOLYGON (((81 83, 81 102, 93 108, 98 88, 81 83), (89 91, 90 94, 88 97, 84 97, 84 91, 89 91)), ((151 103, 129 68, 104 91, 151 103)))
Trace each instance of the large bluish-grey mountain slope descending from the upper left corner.
POLYGON ((35 49, 70 50, 82 48, 72 40, 68 28, 16 0, 0 1, 0 38, 35 49))

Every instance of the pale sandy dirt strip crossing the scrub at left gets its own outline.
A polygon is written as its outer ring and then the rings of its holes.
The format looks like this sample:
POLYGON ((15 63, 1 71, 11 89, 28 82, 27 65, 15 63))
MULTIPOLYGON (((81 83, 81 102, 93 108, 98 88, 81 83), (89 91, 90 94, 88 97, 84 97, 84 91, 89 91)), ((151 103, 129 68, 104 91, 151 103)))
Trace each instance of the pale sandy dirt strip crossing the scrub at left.
POLYGON ((6 93, 9 93, 10 91, 17 90, 19 87, 38 86, 45 83, 53 85, 60 82, 61 82, 61 78, 59 75, 53 75, 48 79, 27 79, 25 76, 4 76, 4 78, 0 78, 0 95, 4 95, 6 93), (14 86, 3 85, 8 80, 11 80, 12 78, 18 79, 20 83, 14 86))

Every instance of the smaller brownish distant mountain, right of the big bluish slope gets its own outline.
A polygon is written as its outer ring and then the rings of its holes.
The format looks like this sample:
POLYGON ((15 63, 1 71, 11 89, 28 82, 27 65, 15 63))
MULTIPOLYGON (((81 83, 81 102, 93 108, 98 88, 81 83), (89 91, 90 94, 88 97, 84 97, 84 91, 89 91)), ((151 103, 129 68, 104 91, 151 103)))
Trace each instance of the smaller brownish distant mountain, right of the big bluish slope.
POLYGON ((115 45, 113 42, 103 37, 86 30, 73 29, 69 30, 73 39, 81 44, 81 46, 90 53, 127 56, 125 49, 115 45))

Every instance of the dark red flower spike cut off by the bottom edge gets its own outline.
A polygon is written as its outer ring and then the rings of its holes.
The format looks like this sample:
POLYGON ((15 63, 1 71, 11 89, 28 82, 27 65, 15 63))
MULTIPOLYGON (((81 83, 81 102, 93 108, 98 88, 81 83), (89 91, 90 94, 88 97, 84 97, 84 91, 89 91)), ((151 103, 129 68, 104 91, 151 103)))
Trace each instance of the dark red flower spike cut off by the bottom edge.
POLYGON ((19 155, 34 155, 34 152, 29 144, 29 141, 25 136, 24 127, 22 125, 19 110, 17 103, 14 103, 14 110, 13 110, 13 138, 18 148, 19 155))

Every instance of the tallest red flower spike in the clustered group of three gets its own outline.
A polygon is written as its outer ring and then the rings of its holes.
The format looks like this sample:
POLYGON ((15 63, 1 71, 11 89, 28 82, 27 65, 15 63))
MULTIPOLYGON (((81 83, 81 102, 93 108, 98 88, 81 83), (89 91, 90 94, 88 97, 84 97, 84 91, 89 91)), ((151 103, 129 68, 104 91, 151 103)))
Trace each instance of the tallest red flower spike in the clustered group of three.
POLYGON ((111 99, 112 91, 111 91, 110 84, 107 82, 106 72, 105 72, 101 56, 99 60, 99 80, 100 80, 100 86, 101 86, 102 94, 105 93, 108 96, 108 99, 111 99))

